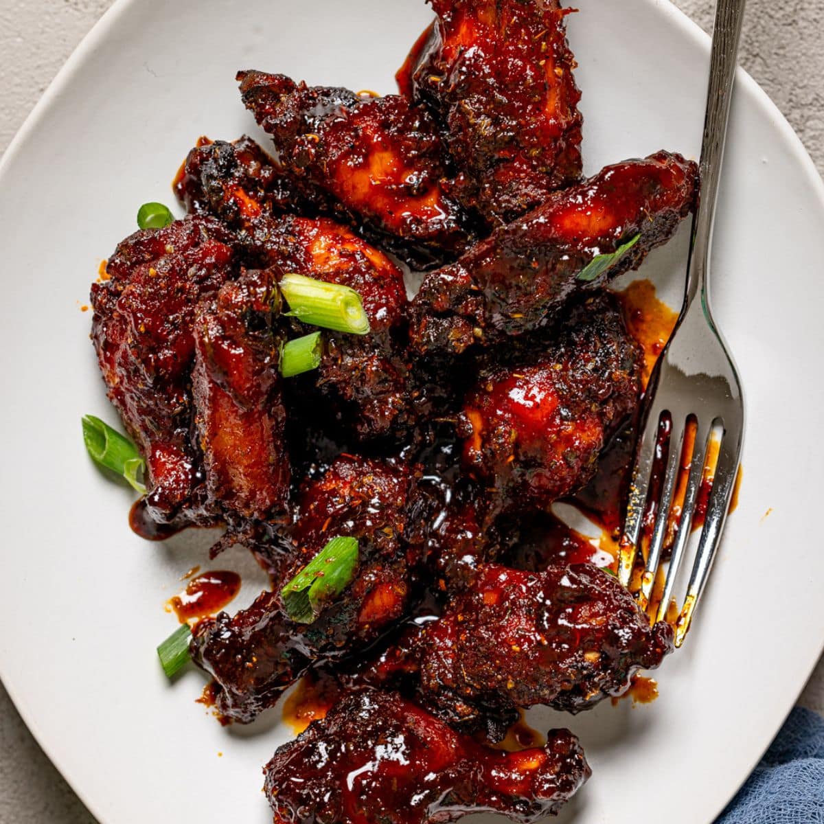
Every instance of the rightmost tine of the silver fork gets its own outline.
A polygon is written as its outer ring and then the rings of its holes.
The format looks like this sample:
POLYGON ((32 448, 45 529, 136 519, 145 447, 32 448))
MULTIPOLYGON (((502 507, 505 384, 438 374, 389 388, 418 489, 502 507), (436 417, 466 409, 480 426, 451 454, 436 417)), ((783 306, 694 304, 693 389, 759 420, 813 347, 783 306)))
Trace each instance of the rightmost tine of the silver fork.
POLYGON ((732 437, 728 437, 726 432, 723 434, 719 447, 719 459, 715 465, 713 488, 709 493, 704 528, 701 530, 698 550, 695 553, 690 583, 687 584, 684 606, 681 608, 681 614, 675 626, 676 647, 684 643, 686 634, 690 630, 695 607, 698 605, 701 593, 704 592, 709 570, 712 569, 715 552, 718 550, 723 525, 727 520, 729 501, 733 495, 740 440, 740 434, 732 437))

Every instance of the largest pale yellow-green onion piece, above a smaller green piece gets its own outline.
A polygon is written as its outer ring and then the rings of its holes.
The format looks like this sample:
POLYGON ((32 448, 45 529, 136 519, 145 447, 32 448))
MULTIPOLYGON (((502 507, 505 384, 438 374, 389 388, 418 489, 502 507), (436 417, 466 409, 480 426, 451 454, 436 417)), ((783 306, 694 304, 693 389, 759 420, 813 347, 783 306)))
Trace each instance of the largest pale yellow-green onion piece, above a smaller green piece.
POLYGON ((299 321, 353 335, 368 333, 369 318, 354 289, 302 274, 284 274, 279 287, 289 304, 288 314, 299 321))

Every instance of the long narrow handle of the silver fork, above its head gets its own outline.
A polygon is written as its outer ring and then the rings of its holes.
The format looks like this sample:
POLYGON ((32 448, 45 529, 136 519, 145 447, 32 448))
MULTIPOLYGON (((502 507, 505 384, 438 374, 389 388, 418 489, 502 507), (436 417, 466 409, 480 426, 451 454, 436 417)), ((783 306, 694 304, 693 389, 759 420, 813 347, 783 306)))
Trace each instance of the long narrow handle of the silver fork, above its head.
POLYGON ((715 8, 712 54, 704 139, 701 144, 700 203, 692 223, 692 244, 687 265, 684 310, 700 293, 709 318, 709 250, 712 246, 715 205, 718 201, 723 147, 727 139, 730 103, 741 40, 746 0, 718 0, 715 8))

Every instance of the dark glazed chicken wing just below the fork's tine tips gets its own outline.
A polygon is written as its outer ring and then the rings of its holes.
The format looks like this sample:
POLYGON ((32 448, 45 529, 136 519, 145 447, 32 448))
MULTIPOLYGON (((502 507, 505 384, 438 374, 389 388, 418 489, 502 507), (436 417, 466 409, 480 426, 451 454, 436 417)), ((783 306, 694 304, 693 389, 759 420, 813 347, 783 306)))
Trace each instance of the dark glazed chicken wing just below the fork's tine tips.
POLYGON ((617 579, 592 564, 527 572, 481 566, 438 620, 360 675, 409 686, 455 728, 501 734, 518 707, 576 713, 621 695, 672 651, 672 627, 649 626, 617 579))

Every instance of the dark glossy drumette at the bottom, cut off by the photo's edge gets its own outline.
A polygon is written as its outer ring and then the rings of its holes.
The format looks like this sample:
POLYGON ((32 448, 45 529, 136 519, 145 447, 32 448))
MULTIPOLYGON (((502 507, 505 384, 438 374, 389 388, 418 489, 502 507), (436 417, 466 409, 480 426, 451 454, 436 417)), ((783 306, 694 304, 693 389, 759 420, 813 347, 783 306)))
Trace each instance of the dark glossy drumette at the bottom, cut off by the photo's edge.
POLYGON ((265 766, 275 824, 428 824, 553 815, 590 775, 578 739, 490 750, 398 695, 349 695, 265 766))

